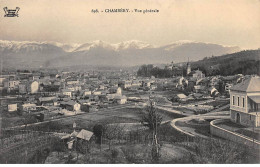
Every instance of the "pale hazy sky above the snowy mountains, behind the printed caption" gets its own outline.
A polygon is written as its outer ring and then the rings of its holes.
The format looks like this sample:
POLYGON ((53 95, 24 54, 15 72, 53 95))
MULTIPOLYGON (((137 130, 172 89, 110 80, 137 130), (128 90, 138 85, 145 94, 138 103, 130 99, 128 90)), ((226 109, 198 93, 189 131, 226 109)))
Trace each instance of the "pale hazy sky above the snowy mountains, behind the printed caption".
POLYGON ((0 0, 0 40, 165 45, 179 40, 260 48, 260 0, 0 0), (106 13, 105 9, 158 13, 106 13), (99 13, 92 13, 98 9, 99 13))

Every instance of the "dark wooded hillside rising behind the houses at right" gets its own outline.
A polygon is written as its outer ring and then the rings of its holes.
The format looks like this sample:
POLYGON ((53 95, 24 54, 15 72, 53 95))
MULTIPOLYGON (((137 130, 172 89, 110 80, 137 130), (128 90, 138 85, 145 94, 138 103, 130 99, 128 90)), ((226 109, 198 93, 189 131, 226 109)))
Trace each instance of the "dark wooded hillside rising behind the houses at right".
POLYGON ((191 68, 199 68, 206 75, 259 75, 260 49, 245 50, 218 57, 205 57, 203 60, 192 62, 191 68))

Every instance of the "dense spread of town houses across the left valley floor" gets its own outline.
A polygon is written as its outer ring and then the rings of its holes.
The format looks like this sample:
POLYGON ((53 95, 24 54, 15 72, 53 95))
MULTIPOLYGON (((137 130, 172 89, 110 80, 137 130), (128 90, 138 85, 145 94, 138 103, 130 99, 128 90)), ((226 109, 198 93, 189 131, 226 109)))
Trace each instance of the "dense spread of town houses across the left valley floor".
POLYGON ((15 72, 0 76, 0 90, 6 97, 20 99, 6 102, 9 112, 38 111, 39 106, 80 112, 125 104, 127 97, 122 90, 154 90, 154 82, 155 78, 137 79, 132 74, 120 73, 15 72))

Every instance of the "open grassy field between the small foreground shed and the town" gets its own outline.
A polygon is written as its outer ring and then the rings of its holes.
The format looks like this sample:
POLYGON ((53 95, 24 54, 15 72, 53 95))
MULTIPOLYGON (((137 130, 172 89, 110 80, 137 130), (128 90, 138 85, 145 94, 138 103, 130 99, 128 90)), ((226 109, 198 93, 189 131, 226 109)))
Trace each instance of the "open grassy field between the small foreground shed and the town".
MULTIPOLYGON (((164 110, 157 110, 157 112, 162 116, 162 121, 170 121, 174 118, 181 117, 177 114, 169 113, 164 110)), ((96 124, 140 123, 144 114, 145 110, 140 108, 116 109, 109 112, 98 111, 78 115, 72 118, 68 117, 67 119, 30 126, 27 127, 27 129, 71 133, 73 131, 72 125, 75 122, 77 125, 77 130, 86 129, 92 131, 96 124)))

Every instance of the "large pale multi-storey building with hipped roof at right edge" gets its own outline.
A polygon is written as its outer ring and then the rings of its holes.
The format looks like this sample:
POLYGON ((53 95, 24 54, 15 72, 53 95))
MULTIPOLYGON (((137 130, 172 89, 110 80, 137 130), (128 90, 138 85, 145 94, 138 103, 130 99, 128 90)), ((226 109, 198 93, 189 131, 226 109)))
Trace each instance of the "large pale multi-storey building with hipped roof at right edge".
POLYGON ((260 126, 260 78, 251 77, 230 88, 231 121, 260 126))

